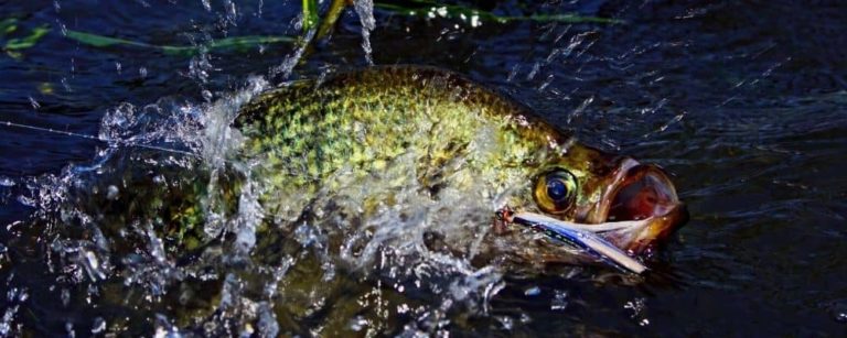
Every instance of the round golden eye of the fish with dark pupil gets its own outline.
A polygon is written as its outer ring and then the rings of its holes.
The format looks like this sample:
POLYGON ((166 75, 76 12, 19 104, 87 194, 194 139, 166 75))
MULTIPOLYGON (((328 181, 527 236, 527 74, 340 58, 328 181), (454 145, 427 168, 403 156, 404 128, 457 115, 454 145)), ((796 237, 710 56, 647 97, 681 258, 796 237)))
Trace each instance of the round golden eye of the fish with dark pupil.
POLYGON ((545 212, 561 214, 570 209, 577 196, 577 177, 556 168, 538 176, 535 183, 535 203, 545 212))

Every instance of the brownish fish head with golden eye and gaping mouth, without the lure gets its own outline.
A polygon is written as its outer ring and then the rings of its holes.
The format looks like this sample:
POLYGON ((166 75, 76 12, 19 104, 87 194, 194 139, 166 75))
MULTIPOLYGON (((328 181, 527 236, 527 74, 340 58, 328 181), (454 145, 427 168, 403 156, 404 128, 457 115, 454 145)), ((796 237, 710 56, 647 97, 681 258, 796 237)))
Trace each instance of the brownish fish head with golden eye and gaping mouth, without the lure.
POLYGON ((652 251, 687 221, 685 204, 658 165, 577 142, 561 149, 536 168, 532 200, 526 198, 521 211, 597 229, 631 254, 652 251))

